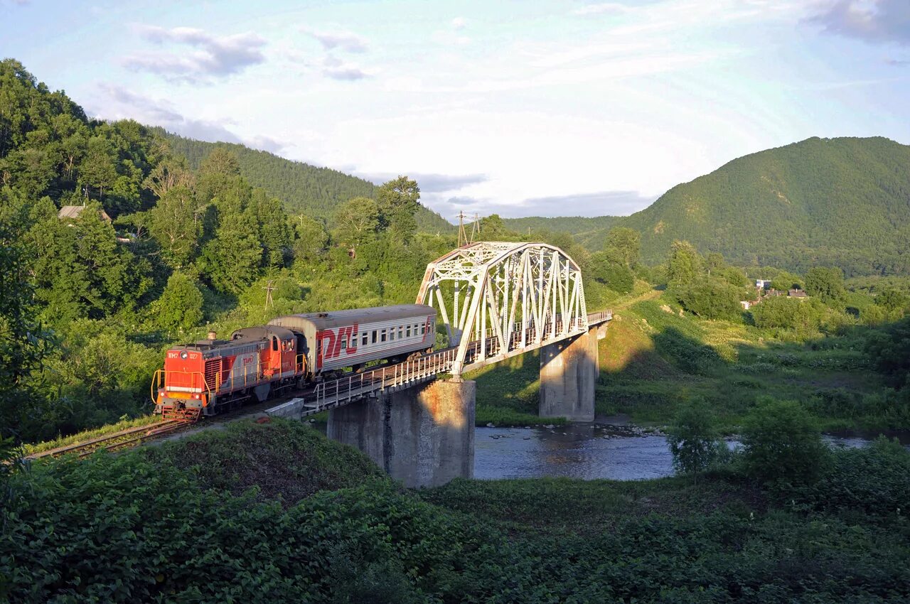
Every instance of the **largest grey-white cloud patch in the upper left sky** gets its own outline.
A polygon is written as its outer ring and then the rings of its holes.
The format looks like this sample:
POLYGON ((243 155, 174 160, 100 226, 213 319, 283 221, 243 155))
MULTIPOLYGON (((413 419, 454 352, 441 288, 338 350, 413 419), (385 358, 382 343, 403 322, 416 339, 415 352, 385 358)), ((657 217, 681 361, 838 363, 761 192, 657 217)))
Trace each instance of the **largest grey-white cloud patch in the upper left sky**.
POLYGON ((251 32, 216 36, 193 27, 166 29, 136 25, 136 33, 157 45, 189 45, 196 50, 180 53, 145 51, 126 55, 122 63, 136 71, 147 71, 174 81, 200 81, 214 76, 237 74, 249 65, 265 62, 261 48, 265 39, 251 32))

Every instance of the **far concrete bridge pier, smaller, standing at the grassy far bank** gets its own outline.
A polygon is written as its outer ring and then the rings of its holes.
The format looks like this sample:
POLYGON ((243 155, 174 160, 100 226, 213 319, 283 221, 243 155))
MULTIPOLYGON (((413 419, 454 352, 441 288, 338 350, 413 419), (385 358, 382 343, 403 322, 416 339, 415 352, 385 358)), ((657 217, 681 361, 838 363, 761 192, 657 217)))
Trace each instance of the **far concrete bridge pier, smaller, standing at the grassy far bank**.
POLYGON ((594 385, 600 373, 599 327, 541 347, 539 415, 570 421, 594 420, 594 385))

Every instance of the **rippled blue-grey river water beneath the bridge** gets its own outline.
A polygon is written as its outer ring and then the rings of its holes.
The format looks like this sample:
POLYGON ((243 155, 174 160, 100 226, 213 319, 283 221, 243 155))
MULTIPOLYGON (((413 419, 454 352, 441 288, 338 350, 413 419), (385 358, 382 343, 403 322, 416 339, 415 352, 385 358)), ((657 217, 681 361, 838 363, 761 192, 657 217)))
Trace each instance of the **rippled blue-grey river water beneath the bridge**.
MULTIPOLYGON (((873 435, 825 435, 836 447, 864 447, 873 435)), ((905 444, 908 435, 901 435, 905 444)), ((738 446, 735 440, 727 446, 738 446)), ((553 428, 477 428, 474 478, 612 478, 673 474, 666 438, 632 426, 570 424, 553 428)))

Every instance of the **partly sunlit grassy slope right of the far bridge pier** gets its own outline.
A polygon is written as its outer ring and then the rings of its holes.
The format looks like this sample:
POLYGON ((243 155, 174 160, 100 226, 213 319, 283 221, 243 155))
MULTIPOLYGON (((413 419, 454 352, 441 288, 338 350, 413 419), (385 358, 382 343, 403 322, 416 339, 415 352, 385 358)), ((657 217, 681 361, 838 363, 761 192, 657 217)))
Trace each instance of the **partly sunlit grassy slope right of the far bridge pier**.
POLYGON ((845 417, 819 404, 834 398, 862 408, 865 397, 881 392, 881 378, 867 363, 851 337, 773 341, 752 326, 642 301, 616 313, 601 342, 596 404, 599 413, 652 424, 669 421, 682 402, 703 399, 731 432, 758 398, 773 397, 803 402, 826 430, 888 428, 882 418, 845 417))

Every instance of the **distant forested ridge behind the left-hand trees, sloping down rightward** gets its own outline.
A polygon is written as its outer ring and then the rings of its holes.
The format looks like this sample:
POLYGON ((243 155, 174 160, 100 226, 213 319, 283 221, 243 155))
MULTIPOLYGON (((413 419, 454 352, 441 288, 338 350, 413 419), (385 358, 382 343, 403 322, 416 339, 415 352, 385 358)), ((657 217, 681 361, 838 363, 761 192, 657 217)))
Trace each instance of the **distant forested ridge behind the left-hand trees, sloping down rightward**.
MULTIPOLYGON (((165 136, 171 150, 186 156, 189 166, 196 170, 208 154, 218 146, 229 149, 238 158, 240 174, 250 185, 265 189, 277 196, 291 214, 332 220, 339 205, 352 197, 376 198, 378 186, 368 180, 350 176, 328 167, 310 166, 291 161, 266 151, 234 143, 207 143, 154 129, 165 136)), ((420 183, 418 183, 420 185, 420 183)), ((420 206, 415 216, 418 228, 424 232, 451 232, 455 227, 439 214, 420 206)))

